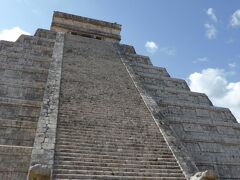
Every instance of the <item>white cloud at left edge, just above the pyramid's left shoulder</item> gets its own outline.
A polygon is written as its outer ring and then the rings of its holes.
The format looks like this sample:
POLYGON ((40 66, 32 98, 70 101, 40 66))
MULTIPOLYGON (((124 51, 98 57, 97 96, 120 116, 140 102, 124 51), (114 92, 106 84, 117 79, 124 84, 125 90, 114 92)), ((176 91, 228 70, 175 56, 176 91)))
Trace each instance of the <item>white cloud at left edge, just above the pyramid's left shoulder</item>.
POLYGON ((30 35, 30 33, 22 30, 18 26, 13 27, 12 29, 3 29, 0 31, 0 40, 16 41, 21 34, 30 35))

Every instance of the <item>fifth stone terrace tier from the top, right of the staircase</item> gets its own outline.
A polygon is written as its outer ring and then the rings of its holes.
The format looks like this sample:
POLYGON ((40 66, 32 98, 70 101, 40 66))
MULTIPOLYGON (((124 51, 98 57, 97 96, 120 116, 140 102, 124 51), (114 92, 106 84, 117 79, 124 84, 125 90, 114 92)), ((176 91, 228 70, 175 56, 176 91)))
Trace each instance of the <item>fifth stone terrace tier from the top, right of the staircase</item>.
POLYGON ((154 85, 144 86, 149 94, 156 100, 168 102, 194 103, 198 105, 213 106, 206 94, 192 91, 178 90, 154 85))

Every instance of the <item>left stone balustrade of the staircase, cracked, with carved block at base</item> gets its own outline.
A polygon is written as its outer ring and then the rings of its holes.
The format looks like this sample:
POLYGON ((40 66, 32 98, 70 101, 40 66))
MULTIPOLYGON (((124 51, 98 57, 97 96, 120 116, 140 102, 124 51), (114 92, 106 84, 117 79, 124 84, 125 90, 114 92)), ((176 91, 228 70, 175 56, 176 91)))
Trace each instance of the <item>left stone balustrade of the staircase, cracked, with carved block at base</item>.
POLYGON ((43 104, 38 120, 28 179, 50 179, 54 160, 55 136, 62 71, 64 33, 57 33, 49 67, 43 104))

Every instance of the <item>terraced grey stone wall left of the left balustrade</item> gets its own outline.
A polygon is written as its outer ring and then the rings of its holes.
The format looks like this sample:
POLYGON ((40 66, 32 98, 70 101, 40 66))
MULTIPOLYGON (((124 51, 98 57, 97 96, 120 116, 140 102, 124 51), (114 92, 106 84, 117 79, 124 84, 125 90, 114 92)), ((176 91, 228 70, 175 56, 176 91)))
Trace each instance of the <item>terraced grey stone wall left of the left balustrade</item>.
POLYGON ((0 179, 26 179, 53 44, 0 41, 0 179))

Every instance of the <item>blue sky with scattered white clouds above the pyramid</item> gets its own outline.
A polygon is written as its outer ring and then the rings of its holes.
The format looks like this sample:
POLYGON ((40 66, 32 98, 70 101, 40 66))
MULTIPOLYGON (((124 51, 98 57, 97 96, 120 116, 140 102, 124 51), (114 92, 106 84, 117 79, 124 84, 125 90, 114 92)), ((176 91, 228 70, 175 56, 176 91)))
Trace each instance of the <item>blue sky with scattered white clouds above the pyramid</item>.
POLYGON ((240 1, 3 0, 0 38, 49 29, 54 10, 122 24, 121 43, 240 119, 240 1))

